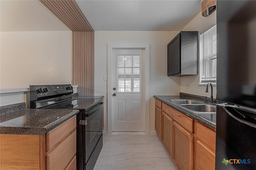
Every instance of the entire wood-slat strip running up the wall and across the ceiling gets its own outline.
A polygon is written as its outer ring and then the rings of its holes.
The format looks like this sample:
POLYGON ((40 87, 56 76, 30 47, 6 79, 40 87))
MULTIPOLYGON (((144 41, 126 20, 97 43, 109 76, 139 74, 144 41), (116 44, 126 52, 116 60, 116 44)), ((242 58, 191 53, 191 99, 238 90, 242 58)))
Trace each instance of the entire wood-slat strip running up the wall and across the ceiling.
POLYGON ((94 30, 75 0, 39 0, 72 31, 72 85, 94 95, 94 30))

